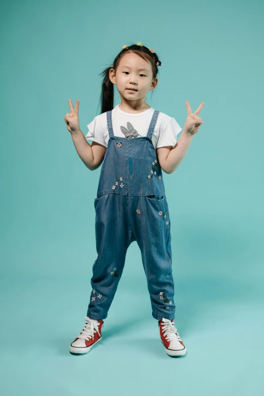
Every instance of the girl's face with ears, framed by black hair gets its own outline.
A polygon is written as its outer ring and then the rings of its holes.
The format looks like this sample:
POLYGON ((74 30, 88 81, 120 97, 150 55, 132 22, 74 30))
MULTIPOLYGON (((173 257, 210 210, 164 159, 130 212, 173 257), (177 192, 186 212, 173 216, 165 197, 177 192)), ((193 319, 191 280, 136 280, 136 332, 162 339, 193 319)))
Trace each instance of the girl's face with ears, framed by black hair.
POLYGON ((148 91, 152 91, 158 83, 158 78, 152 76, 150 63, 129 52, 122 57, 115 71, 110 70, 109 77, 116 84, 119 94, 133 101, 145 98, 148 91))

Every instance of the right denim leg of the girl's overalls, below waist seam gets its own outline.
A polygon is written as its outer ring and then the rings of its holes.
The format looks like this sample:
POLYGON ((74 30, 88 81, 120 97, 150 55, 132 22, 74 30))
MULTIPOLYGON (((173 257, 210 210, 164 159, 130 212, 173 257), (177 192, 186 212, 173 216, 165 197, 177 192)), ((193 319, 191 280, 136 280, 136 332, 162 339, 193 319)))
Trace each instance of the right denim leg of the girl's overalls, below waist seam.
POLYGON ((157 320, 174 319, 174 283, 170 219, 166 197, 129 197, 133 231, 141 250, 152 305, 157 320), (137 212, 140 210, 140 214, 137 212))

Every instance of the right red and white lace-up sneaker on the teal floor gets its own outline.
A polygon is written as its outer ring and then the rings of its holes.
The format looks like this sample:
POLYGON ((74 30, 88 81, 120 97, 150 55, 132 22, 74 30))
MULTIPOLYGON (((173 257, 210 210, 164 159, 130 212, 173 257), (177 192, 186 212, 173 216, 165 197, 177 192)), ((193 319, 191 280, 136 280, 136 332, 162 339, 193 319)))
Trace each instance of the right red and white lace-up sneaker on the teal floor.
POLYGON ((174 319, 162 318, 159 321, 160 338, 162 344, 165 346, 166 353, 169 356, 183 356, 186 353, 186 347, 177 329, 174 327, 174 319))

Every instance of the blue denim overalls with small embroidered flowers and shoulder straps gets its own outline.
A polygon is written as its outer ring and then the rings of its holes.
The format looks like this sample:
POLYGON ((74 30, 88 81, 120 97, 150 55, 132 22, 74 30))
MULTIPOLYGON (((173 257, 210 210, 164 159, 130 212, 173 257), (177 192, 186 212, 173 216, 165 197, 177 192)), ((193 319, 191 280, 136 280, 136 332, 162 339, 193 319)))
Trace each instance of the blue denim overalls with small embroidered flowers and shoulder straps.
POLYGON ((157 320, 174 319, 170 219, 161 167, 152 143, 159 111, 144 137, 114 136, 107 111, 109 141, 95 199, 98 257, 93 265, 87 316, 107 317, 122 275, 128 246, 137 241, 157 320))

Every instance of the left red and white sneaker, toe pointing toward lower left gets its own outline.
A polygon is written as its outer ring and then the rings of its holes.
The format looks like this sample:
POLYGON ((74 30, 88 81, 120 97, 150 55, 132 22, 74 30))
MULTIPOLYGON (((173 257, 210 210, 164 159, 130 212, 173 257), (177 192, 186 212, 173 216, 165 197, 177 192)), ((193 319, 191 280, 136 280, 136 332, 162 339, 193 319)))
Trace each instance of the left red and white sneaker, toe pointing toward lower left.
POLYGON ((96 321, 85 316, 85 324, 80 334, 69 346, 71 353, 86 353, 102 339, 101 328, 104 321, 96 321))

